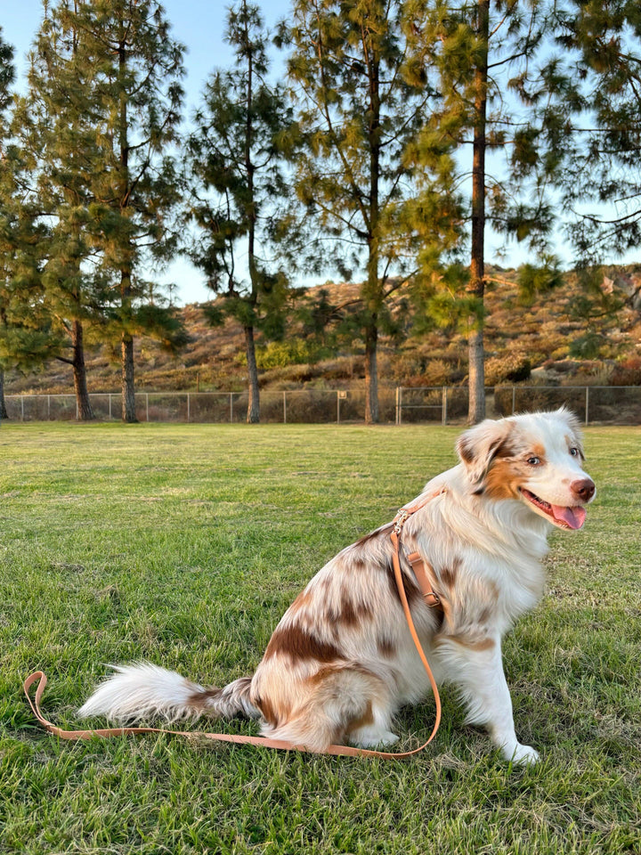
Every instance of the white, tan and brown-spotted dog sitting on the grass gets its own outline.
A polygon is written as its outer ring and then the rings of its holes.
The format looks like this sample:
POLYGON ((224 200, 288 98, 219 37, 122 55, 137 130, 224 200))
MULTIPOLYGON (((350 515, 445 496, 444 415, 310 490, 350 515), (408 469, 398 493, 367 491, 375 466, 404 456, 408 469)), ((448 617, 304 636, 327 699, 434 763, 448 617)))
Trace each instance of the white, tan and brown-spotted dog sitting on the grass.
MULTIPOLYGON (((541 559, 556 526, 577 529, 595 485, 579 425, 564 409, 487 419, 458 439, 458 466, 430 481, 402 551, 434 568, 442 611, 423 602, 402 558, 419 637, 438 683, 450 683, 507 760, 538 753, 516 739, 501 639, 543 592, 541 559), (442 491, 442 492, 441 492, 442 491)), ((118 667, 79 711, 118 721, 207 714, 259 718, 265 736, 321 751, 392 745, 394 713, 429 691, 392 567, 391 524, 332 558, 294 600, 253 677, 203 688, 152 664, 118 667)))

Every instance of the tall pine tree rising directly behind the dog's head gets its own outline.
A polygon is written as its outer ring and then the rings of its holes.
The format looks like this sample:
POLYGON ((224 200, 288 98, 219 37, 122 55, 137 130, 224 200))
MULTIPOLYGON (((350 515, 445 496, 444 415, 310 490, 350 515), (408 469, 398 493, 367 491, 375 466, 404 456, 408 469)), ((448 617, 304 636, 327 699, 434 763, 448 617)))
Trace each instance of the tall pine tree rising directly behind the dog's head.
POLYGON ((519 239, 529 238, 533 244, 540 232, 550 228, 544 184, 526 202, 507 192, 510 178, 523 174, 523 162, 531 159, 540 133, 528 115, 527 84, 548 32, 548 13, 544 0, 507 4, 435 0, 428 25, 418 36, 426 45, 437 45, 431 54, 432 69, 442 102, 426 122, 415 149, 416 160, 434 176, 437 186, 460 188, 469 180, 470 187, 469 278, 465 295, 458 294, 452 310, 467 314, 468 419, 472 423, 485 415, 487 224, 519 239), (454 151, 458 151, 455 158, 454 151), (467 151, 471 151, 471 163, 467 151), (500 163, 499 153, 503 154, 500 163))

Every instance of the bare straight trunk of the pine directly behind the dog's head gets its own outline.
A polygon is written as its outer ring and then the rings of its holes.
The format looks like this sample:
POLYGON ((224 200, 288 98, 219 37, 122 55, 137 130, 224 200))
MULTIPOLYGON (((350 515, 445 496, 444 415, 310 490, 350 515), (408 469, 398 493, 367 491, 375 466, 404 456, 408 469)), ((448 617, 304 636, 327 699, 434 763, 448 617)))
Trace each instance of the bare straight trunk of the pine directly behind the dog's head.
MULTIPOLYGON (((475 129, 472 163, 472 257, 469 290, 480 306, 485 296, 485 125, 487 114, 488 40, 490 37, 490 0, 478 0, 477 32, 481 45, 475 72, 475 129)), ((470 424, 485 418, 485 370, 483 315, 471 319, 469 336, 469 409, 470 424)))

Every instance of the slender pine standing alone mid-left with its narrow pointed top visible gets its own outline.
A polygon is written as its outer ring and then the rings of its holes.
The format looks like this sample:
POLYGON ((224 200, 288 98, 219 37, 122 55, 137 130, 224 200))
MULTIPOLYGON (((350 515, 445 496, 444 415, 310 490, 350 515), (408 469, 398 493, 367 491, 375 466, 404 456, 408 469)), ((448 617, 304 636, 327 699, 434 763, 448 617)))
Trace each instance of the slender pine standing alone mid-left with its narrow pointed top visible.
POLYGON ((269 59, 258 7, 241 0, 231 7, 226 40, 234 69, 215 71, 189 140, 190 216, 198 226, 191 258, 207 284, 224 295, 208 313, 212 322, 230 315, 240 322, 247 356, 247 422, 260 420, 256 330, 282 332, 288 296, 285 273, 264 257, 270 250, 288 186, 282 138, 291 125, 283 89, 268 80, 269 59), (248 282, 238 256, 247 257, 248 282))

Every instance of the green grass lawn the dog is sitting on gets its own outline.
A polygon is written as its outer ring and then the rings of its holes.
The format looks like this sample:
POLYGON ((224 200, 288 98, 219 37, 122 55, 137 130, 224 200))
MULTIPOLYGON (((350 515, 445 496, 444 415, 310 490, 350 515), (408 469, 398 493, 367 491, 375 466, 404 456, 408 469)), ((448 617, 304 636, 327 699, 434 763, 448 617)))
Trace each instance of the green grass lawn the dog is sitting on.
MULTIPOLYGON (((103 663, 251 673, 297 591, 450 466, 457 433, 4 423, 0 851, 639 855, 638 428, 588 430, 596 503, 584 531, 553 535, 548 595, 506 639, 534 768, 501 761, 447 689, 434 744, 398 762, 59 742, 22 696, 44 670, 45 715, 75 727, 103 663)), ((402 745, 433 715, 404 712, 402 745)))

